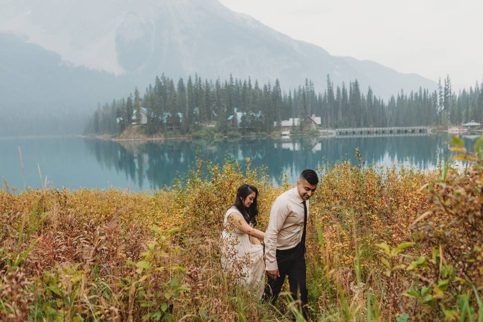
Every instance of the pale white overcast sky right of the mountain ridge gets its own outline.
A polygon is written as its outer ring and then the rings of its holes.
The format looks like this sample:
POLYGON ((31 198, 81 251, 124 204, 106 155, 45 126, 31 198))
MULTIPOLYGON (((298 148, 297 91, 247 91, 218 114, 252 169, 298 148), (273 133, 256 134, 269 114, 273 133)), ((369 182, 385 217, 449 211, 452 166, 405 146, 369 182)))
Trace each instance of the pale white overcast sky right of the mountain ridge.
POLYGON ((220 0, 332 55, 369 59, 453 88, 483 78, 482 0, 220 0))

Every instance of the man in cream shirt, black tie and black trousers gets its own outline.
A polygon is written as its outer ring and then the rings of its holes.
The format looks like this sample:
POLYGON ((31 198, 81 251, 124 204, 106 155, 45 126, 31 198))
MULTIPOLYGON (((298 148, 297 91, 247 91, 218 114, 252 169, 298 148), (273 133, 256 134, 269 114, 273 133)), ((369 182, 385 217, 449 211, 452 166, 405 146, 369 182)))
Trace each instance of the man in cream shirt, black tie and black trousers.
POLYGON ((273 203, 264 238, 265 270, 268 275, 264 300, 275 303, 285 281, 285 275, 288 275, 293 299, 297 300, 300 293, 301 309, 305 319, 308 319, 305 230, 308 199, 315 192, 317 184, 315 171, 302 171, 297 186, 281 194, 273 203))

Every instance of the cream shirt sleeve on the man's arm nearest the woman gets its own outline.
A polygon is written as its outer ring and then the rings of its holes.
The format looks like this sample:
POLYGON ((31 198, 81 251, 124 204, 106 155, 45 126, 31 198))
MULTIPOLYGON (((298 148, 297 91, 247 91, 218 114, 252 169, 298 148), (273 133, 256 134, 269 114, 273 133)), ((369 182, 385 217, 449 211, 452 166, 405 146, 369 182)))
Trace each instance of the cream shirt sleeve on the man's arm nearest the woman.
POLYGON ((278 269, 277 265, 277 239, 278 232, 282 229, 285 219, 289 213, 289 207, 283 200, 275 200, 272 210, 270 211, 270 219, 268 228, 265 231, 265 269, 274 271, 278 269))

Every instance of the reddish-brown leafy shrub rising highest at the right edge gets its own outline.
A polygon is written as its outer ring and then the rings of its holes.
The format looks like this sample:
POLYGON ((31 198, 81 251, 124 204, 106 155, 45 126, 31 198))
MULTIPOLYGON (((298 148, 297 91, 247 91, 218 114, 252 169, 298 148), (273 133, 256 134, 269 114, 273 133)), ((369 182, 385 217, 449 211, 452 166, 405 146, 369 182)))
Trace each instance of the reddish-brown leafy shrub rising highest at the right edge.
POLYGON ((418 258, 406 268, 413 283, 404 294, 414 320, 483 321, 483 137, 468 153, 453 137, 453 160, 428 185, 430 209, 413 223, 418 258))

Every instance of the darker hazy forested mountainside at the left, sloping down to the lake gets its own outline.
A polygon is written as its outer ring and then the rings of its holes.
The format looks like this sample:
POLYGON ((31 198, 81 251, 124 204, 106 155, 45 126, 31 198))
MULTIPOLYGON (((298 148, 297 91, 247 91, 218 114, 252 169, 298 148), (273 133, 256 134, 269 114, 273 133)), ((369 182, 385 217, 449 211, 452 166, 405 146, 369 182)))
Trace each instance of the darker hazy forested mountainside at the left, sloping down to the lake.
POLYGON ((0 135, 80 133, 99 101, 125 96, 132 86, 127 77, 74 67, 0 33, 0 135))

